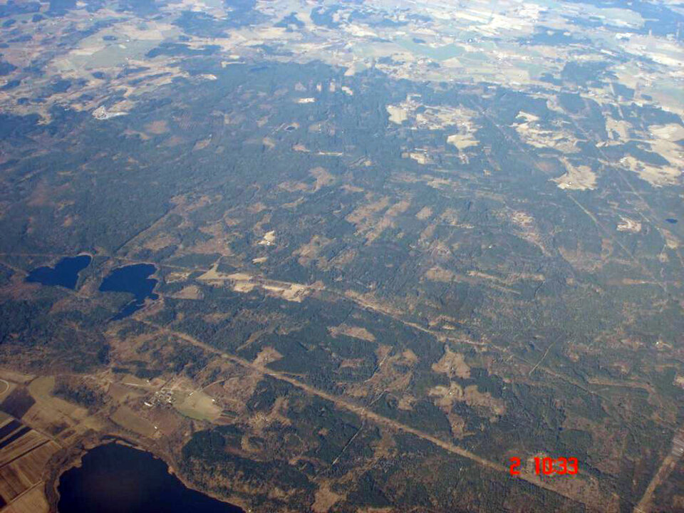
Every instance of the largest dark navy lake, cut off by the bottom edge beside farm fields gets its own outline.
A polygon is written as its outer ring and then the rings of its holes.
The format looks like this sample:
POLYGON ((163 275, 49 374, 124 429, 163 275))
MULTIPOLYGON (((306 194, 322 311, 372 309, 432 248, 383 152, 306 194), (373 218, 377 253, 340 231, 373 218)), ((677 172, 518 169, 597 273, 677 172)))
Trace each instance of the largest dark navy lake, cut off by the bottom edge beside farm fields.
POLYGON ((244 513, 186 488, 149 452, 111 443, 83 456, 59 480, 58 513, 244 513))

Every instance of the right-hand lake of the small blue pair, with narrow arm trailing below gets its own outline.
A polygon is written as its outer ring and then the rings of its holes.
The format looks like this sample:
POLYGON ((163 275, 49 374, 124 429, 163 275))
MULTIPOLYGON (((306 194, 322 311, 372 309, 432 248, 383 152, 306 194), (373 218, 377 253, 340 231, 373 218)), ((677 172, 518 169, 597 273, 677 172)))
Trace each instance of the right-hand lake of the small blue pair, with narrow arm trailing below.
POLYGON ((103 279, 100 291, 103 292, 128 292, 135 298, 116 314, 112 320, 118 321, 130 316, 133 312, 142 308, 145 299, 157 299, 159 296, 152 291, 155 289, 157 280, 149 278, 157 270, 152 264, 134 264, 114 269, 103 279))

